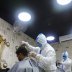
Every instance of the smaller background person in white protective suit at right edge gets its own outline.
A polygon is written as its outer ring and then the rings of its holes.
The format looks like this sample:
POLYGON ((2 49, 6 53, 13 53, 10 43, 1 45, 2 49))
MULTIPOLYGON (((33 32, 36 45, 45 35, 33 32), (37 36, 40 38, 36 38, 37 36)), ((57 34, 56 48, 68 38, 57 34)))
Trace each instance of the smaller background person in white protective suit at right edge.
POLYGON ((62 64, 62 70, 63 72, 72 72, 72 60, 69 58, 69 55, 68 55, 68 52, 65 51, 63 54, 62 54, 62 61, 61 61, 61 64, 62 64))

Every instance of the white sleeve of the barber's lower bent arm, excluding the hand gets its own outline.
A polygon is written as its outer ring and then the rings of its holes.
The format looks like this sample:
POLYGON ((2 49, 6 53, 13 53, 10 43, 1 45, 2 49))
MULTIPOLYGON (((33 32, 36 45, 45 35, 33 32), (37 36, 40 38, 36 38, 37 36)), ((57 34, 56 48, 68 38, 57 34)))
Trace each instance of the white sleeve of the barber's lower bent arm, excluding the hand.
POLYGON ((36 60, 38 61, 39 66, 43 69, 51 64, 51 62, 54 60, 53 58, 55 58, 55 56, 52 51, 49 51, 46 57, 42 56, 41 54, 37 54, 36 56, 36 60))

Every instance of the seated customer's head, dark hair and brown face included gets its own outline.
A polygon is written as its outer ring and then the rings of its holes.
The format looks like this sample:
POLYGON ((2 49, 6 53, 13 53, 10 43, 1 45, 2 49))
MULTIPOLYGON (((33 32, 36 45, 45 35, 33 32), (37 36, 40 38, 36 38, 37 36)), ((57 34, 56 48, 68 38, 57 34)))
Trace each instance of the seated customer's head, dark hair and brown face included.
POLYGON ((25 45, 21 45, 17 50, 16 50, 16 54, 18 57, 18 60, 21 61, 23 60, 25 57, 28 56, 28 50, 25 48, 25 45))

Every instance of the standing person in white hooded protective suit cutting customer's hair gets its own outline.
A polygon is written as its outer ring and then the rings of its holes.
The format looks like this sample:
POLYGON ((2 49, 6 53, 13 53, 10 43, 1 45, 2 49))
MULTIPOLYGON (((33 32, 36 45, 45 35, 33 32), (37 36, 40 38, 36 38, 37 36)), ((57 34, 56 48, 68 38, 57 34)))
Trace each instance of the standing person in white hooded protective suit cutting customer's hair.
POLYGON ((30 52, 30 56, 37 61, 40 68, 44 69, 45 72, 56 72, 56 53, 54 48, 47 43, 45 35, 40 33, 36 38, 36 43, 39 47, 22 41, 22 44, 25 44, 29 51, 33 51, 30 52))

